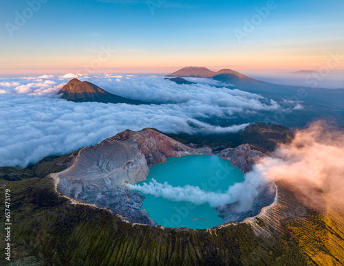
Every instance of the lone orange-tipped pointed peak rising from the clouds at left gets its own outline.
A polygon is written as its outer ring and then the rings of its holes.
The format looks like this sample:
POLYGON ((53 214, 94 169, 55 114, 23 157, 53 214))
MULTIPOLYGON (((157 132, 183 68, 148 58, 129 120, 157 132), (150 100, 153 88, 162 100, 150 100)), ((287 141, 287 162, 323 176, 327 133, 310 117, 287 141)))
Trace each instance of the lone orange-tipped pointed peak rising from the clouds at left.
POLYGON ((58 91, 63 94, 62 98, 72 102, 104 102, 104 103, 126 103, 126 104, 150 104, 139 100, 131 100, 109 93, 91 82, 80 81, 76 78, 69 80, 67 85, 58 91))

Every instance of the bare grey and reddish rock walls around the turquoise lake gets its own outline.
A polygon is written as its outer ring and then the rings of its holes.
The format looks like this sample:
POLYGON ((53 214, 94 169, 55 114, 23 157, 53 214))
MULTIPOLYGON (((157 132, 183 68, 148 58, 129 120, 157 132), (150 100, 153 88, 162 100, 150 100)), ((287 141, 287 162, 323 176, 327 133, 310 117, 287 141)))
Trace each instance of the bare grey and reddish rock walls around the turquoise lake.
MULTIPOLYGON (((140 210, 144 197, 131 192, 125 184, 146 180, 149 168, 166 162, 169 157, 210 154, 213 154, 211 148, 191 148, 153 129, 126 130, 96 146, 73 153, 72 160, 69 160, 73 164, 60 173, 52 174, 52 177, 56 179, 58 190, 67 197, 110 208, 133 223, 157 225, 145 210, 140 210)), ((264 153, 245 144, 226 148, 218 155, 246 173, 264 153)), ((264 193, 264 188, 261 191, 264 193)), ((272 201, 264 201, 264 204, 272 201)), ((255 204, 254 214, 259 213, 266 206, 264 204, 255 204)), ((225 221, 239 221, 252 214, 228 216, 228 212, 233 211, 232 207, 218 210, 225 221)))

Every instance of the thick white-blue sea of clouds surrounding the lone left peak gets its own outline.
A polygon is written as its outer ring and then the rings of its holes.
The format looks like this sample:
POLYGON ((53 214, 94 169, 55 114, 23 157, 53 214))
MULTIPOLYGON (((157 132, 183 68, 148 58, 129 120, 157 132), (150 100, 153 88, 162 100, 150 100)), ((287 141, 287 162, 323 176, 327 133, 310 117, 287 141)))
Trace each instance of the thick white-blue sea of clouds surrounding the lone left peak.
POLYGON ((278 102, 228 89, 211 79, 190 78, 196 85, 177 85, 163 76, 65 74, 0 78, 0 166, 21 166, 43 157, 71 153, 98 144, 125 129, 154 127, 165 133, 236 132, 202 122, 259 111, 277 111, 278 102), (153 104, 68 102, 57 93, 72 78, 93 82, 118 96, 153 104))

